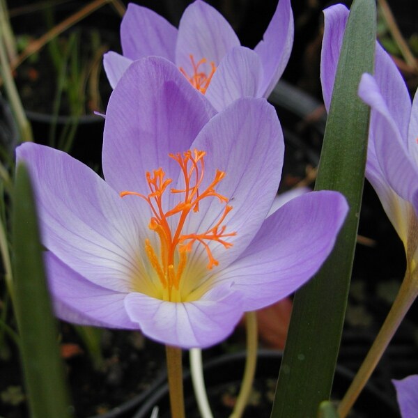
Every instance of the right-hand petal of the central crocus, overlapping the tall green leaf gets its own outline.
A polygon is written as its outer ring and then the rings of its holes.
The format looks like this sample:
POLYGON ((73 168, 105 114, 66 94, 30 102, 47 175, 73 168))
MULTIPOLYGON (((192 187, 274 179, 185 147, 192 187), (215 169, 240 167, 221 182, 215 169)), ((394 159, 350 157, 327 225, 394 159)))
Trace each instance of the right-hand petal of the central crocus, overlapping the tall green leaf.
POLYGON ((318 271, 347 211, 346 199, 336 192, 292 199, 265 219, 249 247, 217 280, 234 283, 245 311, 283 299, 318 271))

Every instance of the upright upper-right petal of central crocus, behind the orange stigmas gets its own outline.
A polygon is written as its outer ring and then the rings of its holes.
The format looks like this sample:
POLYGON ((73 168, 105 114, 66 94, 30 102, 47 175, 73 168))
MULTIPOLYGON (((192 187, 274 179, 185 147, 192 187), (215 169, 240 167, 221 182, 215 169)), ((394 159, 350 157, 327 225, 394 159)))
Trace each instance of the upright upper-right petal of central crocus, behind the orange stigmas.
MULTIPOLYGON (((283 164, 284 140, 274 107, 264 99, 236 100, 213 117, 194 141, 193 148, 205 150, 213 173, 207 173, 202 189, 208 187, 215 169, 226 173, 216 190, 231 199, 224 224, 235 231, 233 247, 212 249, 219 265, 231 263, 247 247, 271 208, 283 164)), ((208 164, 207 164, 208 165, 208 164)), ((190 218, 188 233, 210 229, 224 212, 217 199, 206 199, 199 217, 190 218)), ((201 250, 204 251, 203 246, 201 250)), ((196 250, 196 254, 199 251, 196 250)))

